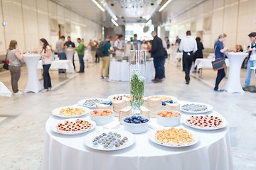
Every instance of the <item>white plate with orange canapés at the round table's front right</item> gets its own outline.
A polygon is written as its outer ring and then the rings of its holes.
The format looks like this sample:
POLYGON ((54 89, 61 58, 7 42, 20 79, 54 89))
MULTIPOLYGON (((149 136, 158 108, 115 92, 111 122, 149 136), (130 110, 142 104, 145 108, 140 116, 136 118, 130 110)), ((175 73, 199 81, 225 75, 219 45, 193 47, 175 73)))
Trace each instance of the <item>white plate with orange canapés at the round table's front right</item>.
POLYGON ((165 128, 154 130, 149 140, 164 147, 188 147, 199 141, 198 135, 183 128, 165 128))

